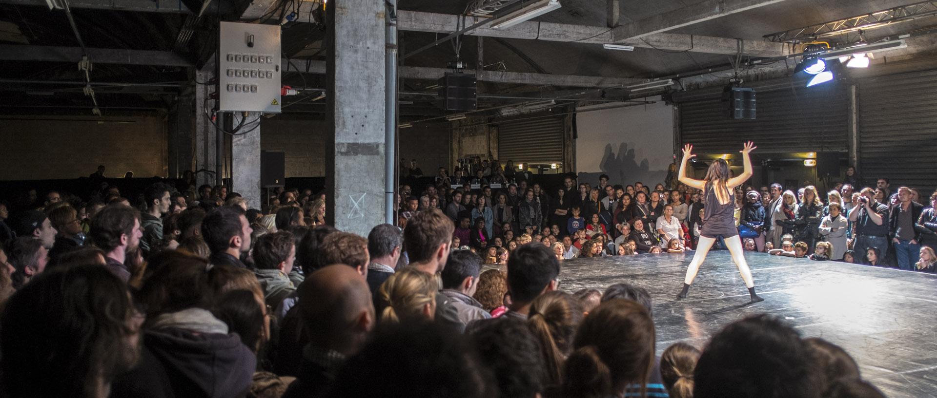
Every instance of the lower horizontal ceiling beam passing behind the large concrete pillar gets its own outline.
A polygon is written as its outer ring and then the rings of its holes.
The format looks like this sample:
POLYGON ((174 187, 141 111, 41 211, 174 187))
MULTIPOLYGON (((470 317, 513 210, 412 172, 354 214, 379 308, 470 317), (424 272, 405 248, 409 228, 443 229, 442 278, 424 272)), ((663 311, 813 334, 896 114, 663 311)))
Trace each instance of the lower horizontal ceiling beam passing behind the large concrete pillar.
MULTIPOLYGON (((403 11, 400 11, 403 12, 403 11)), ((290 60, 294 66, 290 66, 289 71, 308 70, 313 74, 324 74, 325 63, 322 61, 290 60)), ((288 63, 283 60, 281 67, 288 70, 288 63)), ((452 69, 441 67, 424 66, 400 66, 398 76, 400 78, 412 78, 418 80, 436 80, 442 78, 446 72, 452 72, 452 69)), ((497 72, 483 71, 476 76, 478 81, 490 81, 496 83, 530 84, 535 86, 567 86, 567 87, 588 87, 605 88, 620 85, 628 85, 643 81, 637 78, 602 78, 597 76, 574 76, 574 75, 549 75, 542 73, 521 73, 521 72, 497 72)))

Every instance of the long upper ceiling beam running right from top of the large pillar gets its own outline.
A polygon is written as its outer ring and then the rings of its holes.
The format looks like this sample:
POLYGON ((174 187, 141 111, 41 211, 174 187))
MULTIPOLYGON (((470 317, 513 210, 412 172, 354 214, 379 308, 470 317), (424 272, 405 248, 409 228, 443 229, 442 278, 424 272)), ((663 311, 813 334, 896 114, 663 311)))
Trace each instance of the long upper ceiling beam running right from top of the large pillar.
MULTIPOLYGON (((397 28, 401 31, 432 33, 454 32, 457 19, 462 18, 458 15, 417 11, 400 11, 397 17, 397 28)), ((616 42, 612 31, 606 27, 535 21, 521 22, 508 29, 480 27, 466 35, 593 44, 616 42)), ((777 57, 789 52, 782 43, 666 33, 644 36, 643 40, 629 44, 645 49, 688 50, 728 55, 735 55, 741 49, 743 54, 754 57, 777 57)))

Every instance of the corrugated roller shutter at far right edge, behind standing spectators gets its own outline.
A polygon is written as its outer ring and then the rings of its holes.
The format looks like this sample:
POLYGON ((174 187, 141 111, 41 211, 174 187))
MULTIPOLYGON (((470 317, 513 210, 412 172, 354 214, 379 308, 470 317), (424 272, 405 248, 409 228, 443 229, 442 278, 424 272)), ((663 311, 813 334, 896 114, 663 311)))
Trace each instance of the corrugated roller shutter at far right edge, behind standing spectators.
POLYGON ((858 96, 859 174, 937 189, 937 70, 860 79, 858 96))

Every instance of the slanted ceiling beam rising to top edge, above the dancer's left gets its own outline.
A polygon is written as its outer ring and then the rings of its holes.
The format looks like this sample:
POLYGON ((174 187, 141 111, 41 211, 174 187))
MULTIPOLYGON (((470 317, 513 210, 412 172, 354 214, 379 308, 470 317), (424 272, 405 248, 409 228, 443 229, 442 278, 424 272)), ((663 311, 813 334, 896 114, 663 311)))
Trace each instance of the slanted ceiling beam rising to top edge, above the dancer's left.
POLYGON ((612 30, 612 36, 618 43, 632 43, 645 36, 651 36, 709 21, 752 8, 763 7, 784 0, 706 0, 674 11, 658 14, 643 20, 625 23, 612 30))

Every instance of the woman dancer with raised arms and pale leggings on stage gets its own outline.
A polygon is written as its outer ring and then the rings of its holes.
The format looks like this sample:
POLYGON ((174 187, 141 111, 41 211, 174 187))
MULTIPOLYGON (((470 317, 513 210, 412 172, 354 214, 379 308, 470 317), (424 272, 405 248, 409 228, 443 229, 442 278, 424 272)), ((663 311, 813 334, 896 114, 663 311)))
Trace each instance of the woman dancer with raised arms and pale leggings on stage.
POLYGON ((706 179, 700 181, 687 177, 687 162, 696 155, 691 153, 693 150, 692 145, 688 144, 683 147, 683 162, 680 163, 679 180, 693 188, 703 190, 703 194, 706 195, 706 207, 704 208, 703 227, 700 229, 699 245, 690 266, 687 268, 687 277, 683 280, 683 291, 680 291, 677 297, 687 297, 687 290, 690 289, 693 278, 696 277, 696 272, 700 269, 700 264, 706 260, 706 253, 709 252, 709 248, 712 248, 712 244, 716 242, 717 237, 721 235, 725 245, 729 247, 729 252, 732 253, 732 260, 736 262, 738 273, 742 275, 745 286, 749 288, 751 302, 756 303, 765 300, 755 294, 755 284, 751 280, 751 269, 749 269, 749 264, 745 262, 742 241, 738 238, 736 222, 733 219, 736 204, 733 190, 751 178, 749 152, 755 148, 750 141, 745 144, 744 149, 740 150, 742 158, 745 160, 745 171, 741 176, 729 178, 729 164, 725 160, 716 159, 709 165, 706 179))

